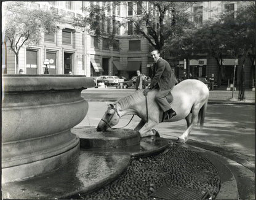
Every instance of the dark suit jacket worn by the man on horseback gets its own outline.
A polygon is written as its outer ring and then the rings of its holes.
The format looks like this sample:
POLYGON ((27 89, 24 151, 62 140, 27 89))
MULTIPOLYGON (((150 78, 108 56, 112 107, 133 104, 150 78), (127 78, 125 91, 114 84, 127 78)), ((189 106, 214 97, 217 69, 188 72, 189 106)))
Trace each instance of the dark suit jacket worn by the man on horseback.
POLYGON ((174 75, 174 71, 170 68, 169 63, 166 60, 159 58, 153 67, 152 80, 148 88, 153 89, 158 88, 159 86, 160 90, 168 90, 172 89, 176 83, 178 83, 178 81, 174 75))

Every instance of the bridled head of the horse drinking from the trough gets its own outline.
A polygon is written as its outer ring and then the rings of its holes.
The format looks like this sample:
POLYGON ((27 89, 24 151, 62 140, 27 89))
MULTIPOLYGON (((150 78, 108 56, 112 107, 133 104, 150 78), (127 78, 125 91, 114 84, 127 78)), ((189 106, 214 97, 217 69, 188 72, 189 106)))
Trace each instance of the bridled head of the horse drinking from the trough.
POLYGON ((115 104, 109 104, 108 109, 103 115, 100 123, 98 123, 97 131, 105 131, 108 128, 117 125, 119 122, 120 116, 118 115, 118 111, 115 104))

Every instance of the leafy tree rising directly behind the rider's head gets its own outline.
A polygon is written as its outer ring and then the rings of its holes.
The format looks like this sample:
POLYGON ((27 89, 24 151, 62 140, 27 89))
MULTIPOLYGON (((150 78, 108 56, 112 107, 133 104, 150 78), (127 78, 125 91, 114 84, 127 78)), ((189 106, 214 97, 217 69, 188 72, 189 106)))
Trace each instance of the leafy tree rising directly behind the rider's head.
POLYGON ((183 28, 188 23, 189 13, 186 11, 192 4, 193 2, 166 1, 112 2, 112 6, 110 3, 105 3, 103 7, 90 4, 90 7, 84 8, 86 17, 76 18, 75 23, 78 26, 87 26, 97 37, 108 35, 110 42, 113 41, 120 26, 130 26, 132 33, 129 34, 145 37, 151 47, 161 52, 166 41, 174 36, 175 30, 183 28), (116 15, 112 8, 119 4, 126 6, 132 15, 130 17, 116 15), (111 30, 104 30, 105 21, 113 21, 113 23, 119 21, 119 23, 116 28, 113 26, 111 30))

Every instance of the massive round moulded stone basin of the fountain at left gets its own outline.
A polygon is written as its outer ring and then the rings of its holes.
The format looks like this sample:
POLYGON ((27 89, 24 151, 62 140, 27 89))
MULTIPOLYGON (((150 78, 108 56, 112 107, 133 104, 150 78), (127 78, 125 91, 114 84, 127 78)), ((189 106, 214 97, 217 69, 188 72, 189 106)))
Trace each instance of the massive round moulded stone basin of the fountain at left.
POLYGON ((85 116, 81 91, 94 87, 78 75, 4 75, 2 183, 63 167, 79 153, 70 132, 85 116))

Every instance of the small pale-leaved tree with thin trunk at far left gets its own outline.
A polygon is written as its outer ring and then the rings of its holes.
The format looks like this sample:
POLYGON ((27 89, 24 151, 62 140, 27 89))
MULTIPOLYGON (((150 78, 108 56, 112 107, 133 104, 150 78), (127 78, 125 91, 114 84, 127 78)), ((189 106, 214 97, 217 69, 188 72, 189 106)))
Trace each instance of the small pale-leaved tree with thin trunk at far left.
POLYGON ((38 44, 42 33, 54 33, 62 17, 54 9, 30 9, 25 2, 5 2, 3 6, 5 40, 15 53, 18 73, 18 54, 23 45, 38 44))

